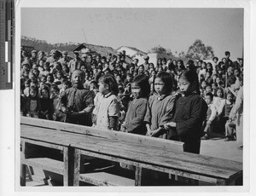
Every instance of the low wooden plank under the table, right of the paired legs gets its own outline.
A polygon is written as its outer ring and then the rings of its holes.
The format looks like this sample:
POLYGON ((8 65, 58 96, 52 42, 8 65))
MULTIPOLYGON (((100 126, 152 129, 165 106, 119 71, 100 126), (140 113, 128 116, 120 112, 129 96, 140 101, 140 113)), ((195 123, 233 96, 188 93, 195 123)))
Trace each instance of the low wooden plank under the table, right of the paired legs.
POLYGON ((96 186, 134 186, 135 181, 123 176, 116 176, 106 172, 80 174, 80 181, 96 186))

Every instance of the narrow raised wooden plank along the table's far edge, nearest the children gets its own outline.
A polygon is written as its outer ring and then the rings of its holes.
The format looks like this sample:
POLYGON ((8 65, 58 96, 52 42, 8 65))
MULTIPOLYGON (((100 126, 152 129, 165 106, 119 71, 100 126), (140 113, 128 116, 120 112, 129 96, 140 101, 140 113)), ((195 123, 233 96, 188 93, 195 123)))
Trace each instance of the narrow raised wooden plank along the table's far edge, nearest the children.
POLYGON ((95 135, 99 137, 105 137, 112 140, 118 141, 131 141, 140 143, 143 146, 148 147, 162 147, 167 149, 173 149, 177 151, 183 151, 184 143, 180 141, 170 141, 155 137, 148 137, 145 135, 135 135, 130 133, 123 133, 114 130, 99 130, 96 128, 83 126, 79 124, 67 124, 56 121, 49 121, 37 118, 21 117, 20 124, 27 124, 31 126, 40 126, 44 128, 63 130, 68 132, 74 132, 84 135, 95 135))

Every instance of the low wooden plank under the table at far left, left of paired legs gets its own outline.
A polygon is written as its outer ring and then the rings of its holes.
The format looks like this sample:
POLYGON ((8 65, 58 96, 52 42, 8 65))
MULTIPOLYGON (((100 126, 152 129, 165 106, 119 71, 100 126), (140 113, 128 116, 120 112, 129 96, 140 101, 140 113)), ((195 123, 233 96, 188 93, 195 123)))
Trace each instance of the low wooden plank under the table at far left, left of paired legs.
POLYGON ((57 174, 63 175, 64 164, 61 161, 48 158, 32 158, 32 159, 21 159, 21 164, 30 165, 41 170, 49 170, 57 174))

